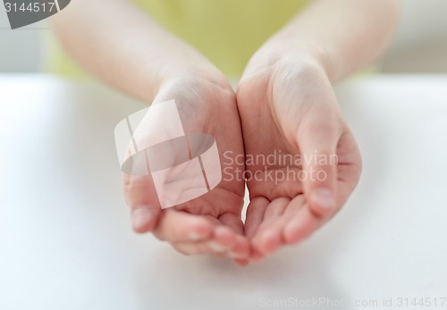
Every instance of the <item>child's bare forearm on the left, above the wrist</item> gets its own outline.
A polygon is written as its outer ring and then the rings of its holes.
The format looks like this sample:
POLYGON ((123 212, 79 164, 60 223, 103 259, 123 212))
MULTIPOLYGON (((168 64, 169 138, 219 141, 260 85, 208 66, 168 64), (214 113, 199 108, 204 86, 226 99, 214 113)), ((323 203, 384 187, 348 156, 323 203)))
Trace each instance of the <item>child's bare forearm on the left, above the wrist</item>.
POLYGON ((148 102, 169 77, 217 74, 204 56, 126 0, 73 1, 54 25, 66 51, 87 71, 148 102))

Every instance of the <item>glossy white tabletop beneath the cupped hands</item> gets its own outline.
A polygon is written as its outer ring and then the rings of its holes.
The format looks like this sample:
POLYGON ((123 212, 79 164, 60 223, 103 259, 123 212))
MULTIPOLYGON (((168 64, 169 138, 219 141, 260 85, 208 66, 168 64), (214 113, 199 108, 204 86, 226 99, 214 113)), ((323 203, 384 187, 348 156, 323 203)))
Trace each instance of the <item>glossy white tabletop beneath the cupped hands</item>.
POLYGON ((364 159, 358 189, 314 237, 241 268, 131 232, 114 126, 141 103, 0 76, 0 309, 447 309, 447 76, 337 94, 364 159), (432 306, 399 299, 415 297, 432 306))

